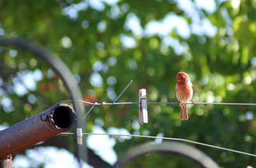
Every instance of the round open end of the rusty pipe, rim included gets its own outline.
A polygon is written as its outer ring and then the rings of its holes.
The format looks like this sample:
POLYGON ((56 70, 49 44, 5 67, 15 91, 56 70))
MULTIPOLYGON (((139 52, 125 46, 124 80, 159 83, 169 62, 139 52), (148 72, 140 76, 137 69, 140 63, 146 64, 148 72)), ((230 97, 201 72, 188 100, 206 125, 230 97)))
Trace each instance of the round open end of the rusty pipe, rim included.
POLYGON ((47 112, 47 124, 52 130, 66 132, 70 130, 76 121, 76 113, 65 103, 54 105, 47 112))

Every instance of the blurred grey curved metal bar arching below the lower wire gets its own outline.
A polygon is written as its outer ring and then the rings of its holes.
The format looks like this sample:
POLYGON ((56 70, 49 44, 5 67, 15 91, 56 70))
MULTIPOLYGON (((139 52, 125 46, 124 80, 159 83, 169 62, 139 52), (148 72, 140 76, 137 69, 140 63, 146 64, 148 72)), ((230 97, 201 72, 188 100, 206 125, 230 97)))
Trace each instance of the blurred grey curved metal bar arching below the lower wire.
MULTIPOLYGON (((162 144, 142 144, 131 148, 125 155, 120 158, 114 165, 114 167, 122 167, 128 162, 132 162, 138 157, 146 155, 148 153, 156 152, 168 152, 177 153, 184 157, 191 158, 195 160, 199 165, 205 168, 220 168, 218 164, 214 162, 210 157, 205 155, 202 151, 189 146, 188 144, 183 144, 180 142, 163 142, 162 144)), ((182 165, 181 165, 182 167, 182 165)))

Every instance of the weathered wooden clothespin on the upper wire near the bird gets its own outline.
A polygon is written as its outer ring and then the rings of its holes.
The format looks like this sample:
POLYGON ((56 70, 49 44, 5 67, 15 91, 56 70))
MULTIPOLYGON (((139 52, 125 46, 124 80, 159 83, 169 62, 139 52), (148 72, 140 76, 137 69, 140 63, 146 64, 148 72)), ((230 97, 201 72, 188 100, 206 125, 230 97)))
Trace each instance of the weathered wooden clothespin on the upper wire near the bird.
POLYGON ((148 110, 147 110, 147 93, 146 89, 140 89, 139 91, 139 123, 148 123, 148 110))

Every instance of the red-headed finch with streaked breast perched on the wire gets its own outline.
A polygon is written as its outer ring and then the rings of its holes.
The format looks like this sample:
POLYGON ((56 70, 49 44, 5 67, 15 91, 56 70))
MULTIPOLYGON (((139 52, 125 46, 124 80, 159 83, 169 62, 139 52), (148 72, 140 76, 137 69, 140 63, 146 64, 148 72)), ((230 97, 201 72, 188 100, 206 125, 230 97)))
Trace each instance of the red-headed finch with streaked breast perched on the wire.
MULTIPOLYGON (((175 78, 176 84, 176 97, 179 102, 191 101, 193 96, 193 84, 190 81, 189 75, 185 72, 177 73, 175 78)), ((188 119, 187 104, 180 104, 180 119, 188 119)))

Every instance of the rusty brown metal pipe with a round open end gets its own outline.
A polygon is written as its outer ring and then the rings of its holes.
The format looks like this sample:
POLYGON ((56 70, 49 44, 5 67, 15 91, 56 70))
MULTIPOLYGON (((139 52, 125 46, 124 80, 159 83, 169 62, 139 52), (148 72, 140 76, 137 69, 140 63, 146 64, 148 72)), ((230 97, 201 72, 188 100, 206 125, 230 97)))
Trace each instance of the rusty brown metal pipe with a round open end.
POLYGON ((6 158, 40 141, 70 130, 76 113, 60 103, 46 111, 0 131, 0 158, 6 158))

